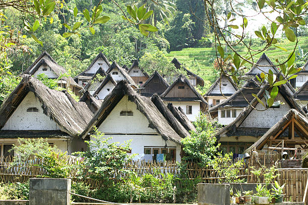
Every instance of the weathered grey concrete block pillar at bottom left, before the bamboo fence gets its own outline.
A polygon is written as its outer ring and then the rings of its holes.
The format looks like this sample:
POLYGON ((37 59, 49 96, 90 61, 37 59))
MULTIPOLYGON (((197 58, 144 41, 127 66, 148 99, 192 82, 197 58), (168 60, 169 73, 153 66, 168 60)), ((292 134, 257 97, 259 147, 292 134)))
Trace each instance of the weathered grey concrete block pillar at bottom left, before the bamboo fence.
POLYGON ((29 205, 69 205, 70 179, 30 179, 29 205))

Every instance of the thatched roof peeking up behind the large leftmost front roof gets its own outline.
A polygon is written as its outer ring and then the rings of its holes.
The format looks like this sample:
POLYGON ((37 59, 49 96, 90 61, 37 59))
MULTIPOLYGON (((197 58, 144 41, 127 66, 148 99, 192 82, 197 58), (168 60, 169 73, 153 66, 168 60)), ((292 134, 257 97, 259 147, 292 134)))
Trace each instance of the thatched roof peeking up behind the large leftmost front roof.
MULTIPOLYGON (((61 74, 67 74, 68 72, 66 71, 66 69, 64 69, 64 67, 60 66, 58 63, 56 63, 53 60, 49 60, 49 59, 44 59, 41 58, 38 63, 33 67, 33 69, 30 71, 29 75, 34 75, 35 72, 39 69, 39 67, 41 65, 47 65, 48 67, 50 67, 50 69, 59 77, 61 74)), ((62 77, 62 80, 65 80, 66 83, 73 85, 75 87, 81 88, 80 85, 76 84, 76 82, 69 76, 69 77, 62 77)))

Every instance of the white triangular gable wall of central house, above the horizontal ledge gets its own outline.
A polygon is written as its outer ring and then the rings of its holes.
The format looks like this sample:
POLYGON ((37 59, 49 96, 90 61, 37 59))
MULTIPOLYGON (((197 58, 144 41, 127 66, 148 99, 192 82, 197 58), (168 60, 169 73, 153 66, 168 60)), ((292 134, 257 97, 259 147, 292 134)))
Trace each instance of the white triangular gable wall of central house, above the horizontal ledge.
POLYGON ((98 130, 104 133, 157 133, 148 127, 146 117, 137 110, 135 103, 128 101, 127 96, 113 108, 98 130), (123 110, 132 111, 133 116, 120 116, 123 110))

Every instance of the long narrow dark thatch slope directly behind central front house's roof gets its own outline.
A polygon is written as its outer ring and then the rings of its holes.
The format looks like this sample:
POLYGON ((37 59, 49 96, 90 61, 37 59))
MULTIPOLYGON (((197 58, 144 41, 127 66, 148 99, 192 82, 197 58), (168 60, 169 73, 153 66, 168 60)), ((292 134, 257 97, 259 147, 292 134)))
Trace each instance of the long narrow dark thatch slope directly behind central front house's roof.
POLYGON ((181 136, 181 138, 186 138, 186 136, 190 135, 189 132, 184 128, 184 126, 177 120, 177 118, 163 103, 162 99, 160 98, 160 96, 158 96, 158 94, 154 94, 150 99, 155 104, 157 109, 167 119, 169 125, 181 136))

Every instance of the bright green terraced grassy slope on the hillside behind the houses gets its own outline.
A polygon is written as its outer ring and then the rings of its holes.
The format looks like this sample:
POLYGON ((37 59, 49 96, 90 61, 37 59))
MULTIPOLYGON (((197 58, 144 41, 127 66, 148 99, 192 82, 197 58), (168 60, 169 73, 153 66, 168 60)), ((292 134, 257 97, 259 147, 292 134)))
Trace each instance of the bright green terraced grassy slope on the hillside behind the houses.
MULTIPOLYGON (((299 37, 298 45, 304 50, 304 52, 308 51, 308 37, 299 37)), ((295 43, 289 42, 287 40, 281 40, 278 41, 279 43, 277 45, 284 47, 289 52, 294 48, 295 43)), ((253 49, 260 49, 262 46, 253 48, 253 49)), ((238 52, 240 52, 242 55, 245 55, 246 49, 244 47, 235 47, 238 52)), ((230 52, 231 50, 228 49, 230 52)), ((274 62, 276 58, 279 60, 286 60, 288 57, 289 52, 285 52, 279 48, 276 48, 274 46, 270 47, 266 50, 266 55, 274 62)), ((232 54, 233 53, 229 53, 232 54)), ((259 53, 255 56, 254 60, 257 60, 262 53, 259 53)), ((200 70, 197 70, 194 67, 189 67, 190 70, 195 72, 197 75, 202 77, 206 82, 206 87, 208 87, 211 83, 215 81, 215 76, 212 69, 213 60, 216 57, 216 52, 214 48, 184 48, 180 51, 171 51, 167 55, 170 57, 170 59, 173 59, 176 57, 181 63, 188 63, 190 61, 196 60, 200 65, 200 70)), ((251 67, 248 63, 245 64, 248 68, 251 67)), ((248 70, 247 70, 248 71, 248 70)))

